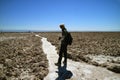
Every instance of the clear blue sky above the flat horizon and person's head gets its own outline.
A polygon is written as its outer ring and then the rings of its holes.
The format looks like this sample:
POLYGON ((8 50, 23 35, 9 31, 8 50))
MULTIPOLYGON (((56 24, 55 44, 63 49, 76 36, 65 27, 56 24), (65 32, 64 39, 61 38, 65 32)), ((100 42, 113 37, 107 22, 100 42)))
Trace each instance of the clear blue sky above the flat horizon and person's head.
POLYGON ((0 30, 120 31, 120 0, 0 0, 0 30))

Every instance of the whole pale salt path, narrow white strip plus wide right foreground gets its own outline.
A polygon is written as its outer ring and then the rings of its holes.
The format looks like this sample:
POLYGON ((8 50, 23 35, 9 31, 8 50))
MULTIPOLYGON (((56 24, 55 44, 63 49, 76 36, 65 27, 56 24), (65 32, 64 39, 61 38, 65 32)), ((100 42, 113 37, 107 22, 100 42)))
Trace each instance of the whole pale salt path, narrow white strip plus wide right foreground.
POLYGON ((68 59, 67 67, 63 68, 66 73, 61 72, 54 63, 58 60, 56 47, 47 41, 47 38, 42 37, 42 48, 49 61, 49 73, 44 80, 120 80, 120 74, 113 73, 105 68, 96 67, 82 62, 75 62, 68 59), (68 76, 69 77, 66 77, 68 76))

